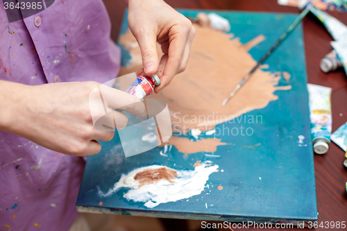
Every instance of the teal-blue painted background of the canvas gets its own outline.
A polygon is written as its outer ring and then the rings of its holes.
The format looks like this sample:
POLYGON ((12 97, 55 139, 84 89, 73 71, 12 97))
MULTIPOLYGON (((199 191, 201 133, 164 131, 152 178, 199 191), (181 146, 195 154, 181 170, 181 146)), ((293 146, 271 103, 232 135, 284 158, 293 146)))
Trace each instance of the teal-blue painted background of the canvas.
MULTIPOLYGON (((180 12, 188 17, 195 17, 197 12, 201 11, 180 12)), ((239 37, 242 43, 260 34, 266 37, 266 40, 250 51, 255 60, 261 58, 297 16, 226 11, 218 13, 229 19, 232 33, 239 37)), ((125 15, 122 33, 126 31, 126 26, 125 15)), ((101 153, 88 157, 76 205, 120 209, 130 214, 142 211, 150 213, 151 216, 164 214, 171 217, 171 214, 176 213, 183 217, 187 214, 192 218, 191 215, 194 214, 196 219, 206 219, 204 216, 207 215, 234 217, 238 218, 238 221, 242 221, 242 218, 272 221, 317 219, 301 24, 270 55, 265 64, 269 64, 269 71, 287 71, 291 74, 289 85, 292 89, 275 92, 279 96, 277 101, 271 101, 266 108, 244 114, 240 123, 224 123, 224 127, 230 129, 251 127, 254 130, 253 135, 217 135, 221 142, 235 144, 219 146, 214 153, 221 156, 217 158, 206 157, 205 153, 189 154, 187 158, 183 158, 184 153, 178 152, 175 147, 167 152, 168 157, 159 155, 163 148, 154 148, 126 158, 116 132, 111 142, 101 142, 101 153), (257 115, 262 116, 262 123, 247 123, 248 116, 257 115), (298 135, 305 137, 304 144, 307 146, 298 145, 298 135), (255 144, 260 146, 253 148, 255 144), (135 203, 124 198, 123 195, 128 189, 120 189, 107 198, 97 195, 96 186, 102 191, 108 191, 122 173, 138 167, 162 164, 173 169, 194 169, 196 160, 211 160, 219 165, 219 172, 210 175, 207 182, 210 189, 205 188, 205 191, 189 198, 189 201, 184 199, 149 209, 144 203, 135 203), (214 187, 211 187, 212 185, 214 187), (217 189, 219 185, 223 186, 222 190, 217 189), (207 194, 209 192, 210 194, 207 194), (102 206, 99 205, 101 201, 102 206), (208 204, 208 209, 205 203, 208 204)), ((287 84, 282 78, 279 85, 287 84)), ((230 90, 232 87, 230 86, 230 90)))

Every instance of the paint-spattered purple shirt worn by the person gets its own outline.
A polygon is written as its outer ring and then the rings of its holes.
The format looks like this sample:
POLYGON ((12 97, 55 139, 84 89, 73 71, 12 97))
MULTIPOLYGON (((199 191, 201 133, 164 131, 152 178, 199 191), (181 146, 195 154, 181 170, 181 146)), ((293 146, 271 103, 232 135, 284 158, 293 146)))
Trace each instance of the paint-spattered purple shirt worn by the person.
MULTIPOLYGON (((11 23, 1 1, 0 41, 0 80, 105 83, 119 71, 101 0, 56 0, 11 23)), ((69 230, 83 168, 79 157, 0 131, 0 230, 69 230)))

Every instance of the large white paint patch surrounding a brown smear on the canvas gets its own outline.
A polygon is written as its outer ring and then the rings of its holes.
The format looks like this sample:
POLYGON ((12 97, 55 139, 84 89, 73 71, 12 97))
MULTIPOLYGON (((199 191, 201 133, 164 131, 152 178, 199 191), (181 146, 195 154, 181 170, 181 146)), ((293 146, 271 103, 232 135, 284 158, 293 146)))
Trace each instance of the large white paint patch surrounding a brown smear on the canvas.
POLYGON ((99 187, 98 194, 100 197, 107 197, 115 194, 122 187, 130 188, 124 194, 124 198, 134 200, 135 202, 143 202, 146 207, 153 208, 161 203, 174 202, 183 200, 201 194, 205 188, 205 184, 211 173, 218 169, 218 165, 211 165, 211 162, 203 162, 196 166, 194 170, 176 170, 162 165, 144 166, 139 169, 130 171, 126 175, 122 175, 114 187, 104 193, 99 187), (148 185, 139 187, 139 181, 134 177, 137 173, 147 170, 167 168, 171 171, 176 171, 178 177, 172 182, 168 180, 159 180, 148 185))

